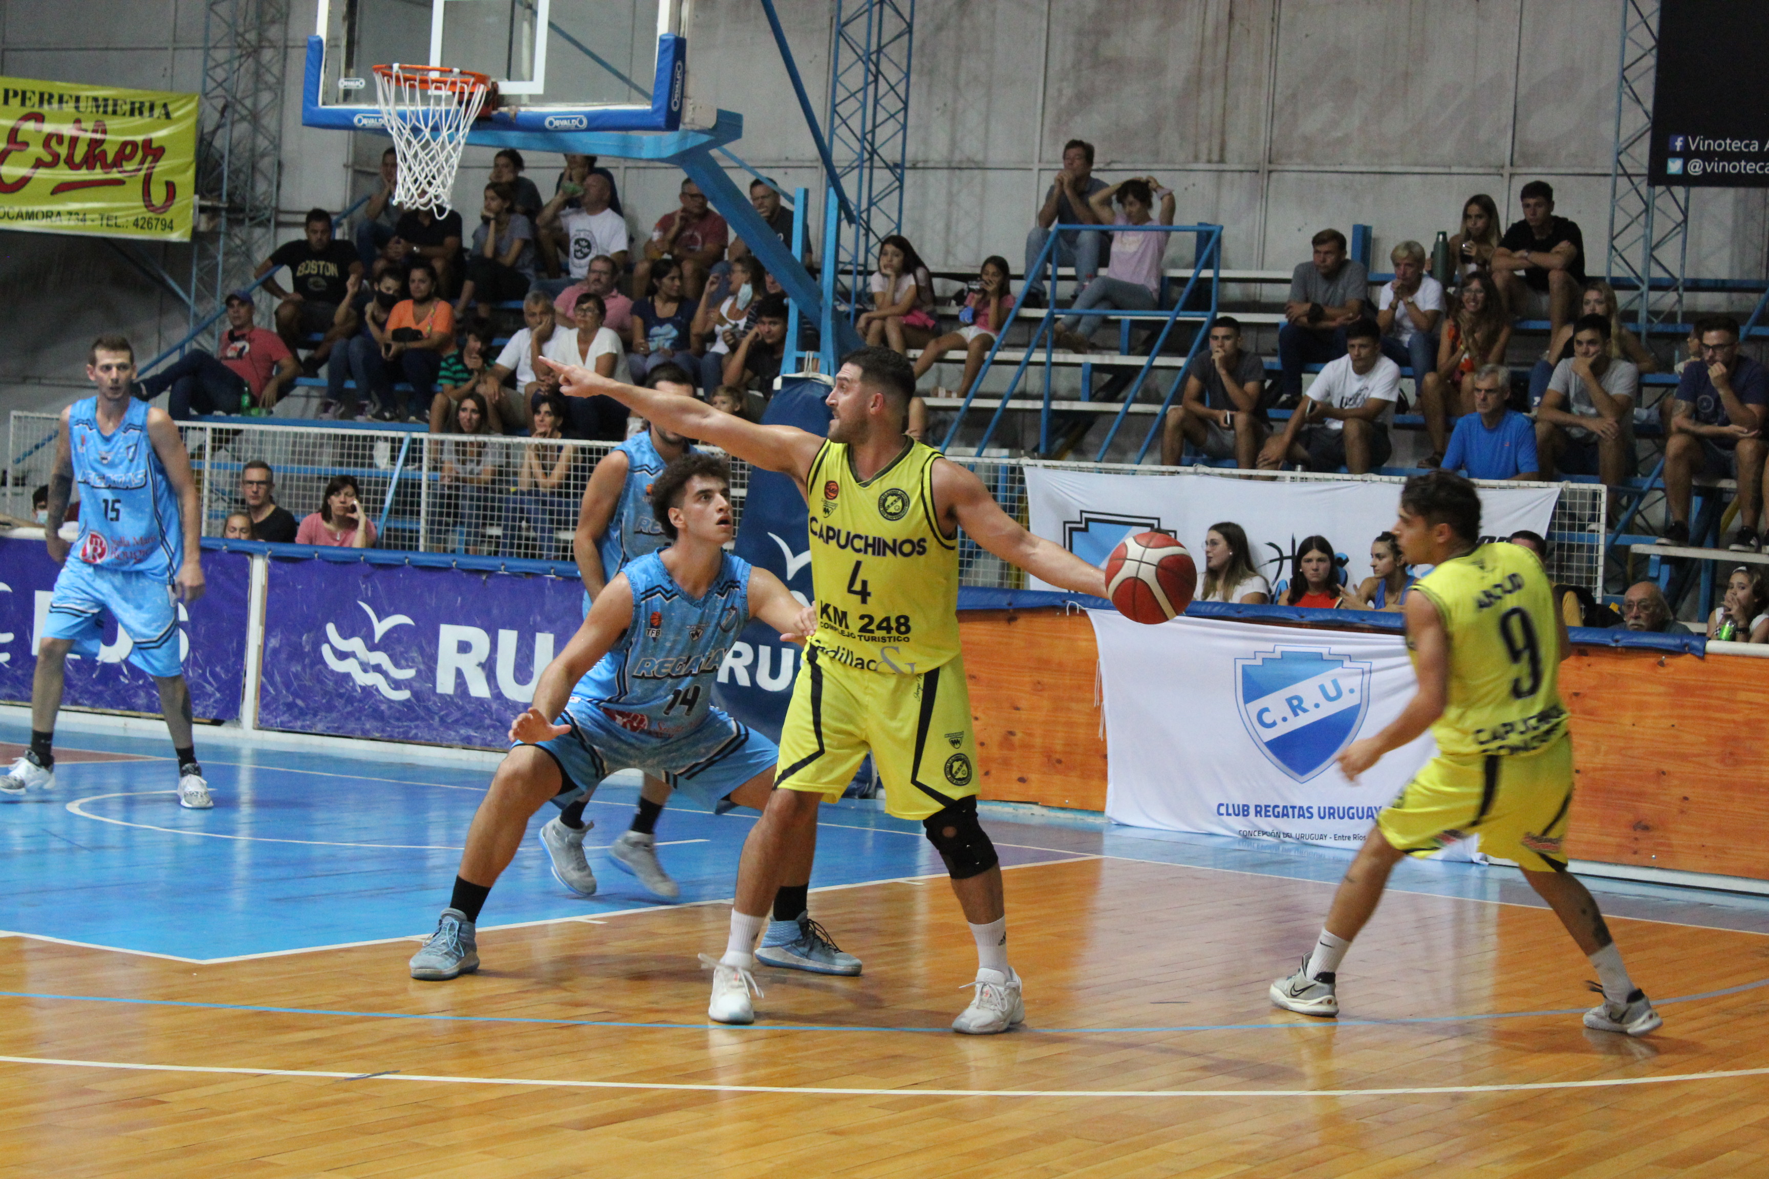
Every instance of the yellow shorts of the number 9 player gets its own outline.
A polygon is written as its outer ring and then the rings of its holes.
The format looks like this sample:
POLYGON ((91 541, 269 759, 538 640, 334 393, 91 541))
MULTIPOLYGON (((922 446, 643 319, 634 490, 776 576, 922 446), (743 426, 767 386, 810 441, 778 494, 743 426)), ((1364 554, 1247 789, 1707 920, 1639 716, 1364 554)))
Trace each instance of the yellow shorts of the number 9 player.
POLYGON ((1376 815, 1398 850, 1429 856, 1467 836, 1481 836, 1488 856, 1530 871, 1566 868, 1567 813, 1573 808, 1573 739, 1566 734, 1523 757, 1435 757, 1376 815))

